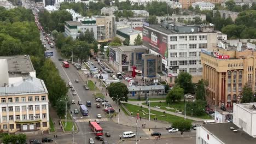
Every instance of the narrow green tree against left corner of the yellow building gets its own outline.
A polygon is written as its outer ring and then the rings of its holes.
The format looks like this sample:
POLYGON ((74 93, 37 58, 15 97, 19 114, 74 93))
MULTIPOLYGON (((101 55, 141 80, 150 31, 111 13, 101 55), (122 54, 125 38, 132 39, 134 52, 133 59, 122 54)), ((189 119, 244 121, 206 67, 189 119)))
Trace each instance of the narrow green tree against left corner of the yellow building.
POLYGON ((208 81, 199 80, 196 88, 196 100, 206 100, 206 87, 208 86, 208 81))

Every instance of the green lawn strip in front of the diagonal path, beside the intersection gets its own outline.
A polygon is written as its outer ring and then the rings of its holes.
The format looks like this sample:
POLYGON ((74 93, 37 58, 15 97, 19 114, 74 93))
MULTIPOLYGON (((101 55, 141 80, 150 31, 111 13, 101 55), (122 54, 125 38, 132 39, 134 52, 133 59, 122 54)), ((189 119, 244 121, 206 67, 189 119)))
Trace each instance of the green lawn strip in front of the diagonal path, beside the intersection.
MULTIPOLYGON (((146 109, 144 107, 141 108, 140 106, 136 106, 136 105, 132 105, 132 104, 126 104, 126 103, 124 104, 124 106, 126 107, 127 110, 132 112, 134 116, 136 115, 136 113, 139 113, 139 116, 148 118, 148 109, 146 109)), ((175 121, 181 121, 182 119, 184 119, 183 117, 173 116, 168 113, 163 113, 163 112, 154 111, 154 110, 150 110, 150 113, 151 113, 150 118, 153 119, 153 118, 157 117, 158 120, 166 121, 169 123, 173 123, 175 121)), ((193 122, 190 119, 187 119, 187 121, 193 122)))

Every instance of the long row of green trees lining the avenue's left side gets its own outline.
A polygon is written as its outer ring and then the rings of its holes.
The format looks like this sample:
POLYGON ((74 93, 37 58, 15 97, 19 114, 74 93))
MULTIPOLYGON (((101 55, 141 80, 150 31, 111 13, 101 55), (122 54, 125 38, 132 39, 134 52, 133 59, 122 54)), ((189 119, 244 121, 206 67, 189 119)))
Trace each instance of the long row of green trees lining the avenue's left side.
POLYGON ((65 106, 57 101, 67 98, 66 83, 54 63, 44 58, 44 47, 32 11, 22 7, 11 10, 0 7, 0 20, 0 56, 30 55, 37 77, 44 80, 48 89, 50 103, 60 110, 59 115, 65 113, 65 106))

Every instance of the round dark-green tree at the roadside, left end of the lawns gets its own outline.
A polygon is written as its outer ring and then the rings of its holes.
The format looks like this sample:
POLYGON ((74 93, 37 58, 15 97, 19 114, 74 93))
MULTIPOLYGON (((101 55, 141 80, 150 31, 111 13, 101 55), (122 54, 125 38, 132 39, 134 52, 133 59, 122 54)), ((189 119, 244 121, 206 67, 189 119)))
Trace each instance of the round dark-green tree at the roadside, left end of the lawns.
MULTIPOLYGON (((110 85, 107 87, 108 89, 108 94, 110 98, 122 98, 121 100, 127 101, 128 97, 127 94, 129 93, 127 86, 124 83, 121 82, 112 82, 110 85)), ((116 99, 114 99, 116 100, 116 99)))

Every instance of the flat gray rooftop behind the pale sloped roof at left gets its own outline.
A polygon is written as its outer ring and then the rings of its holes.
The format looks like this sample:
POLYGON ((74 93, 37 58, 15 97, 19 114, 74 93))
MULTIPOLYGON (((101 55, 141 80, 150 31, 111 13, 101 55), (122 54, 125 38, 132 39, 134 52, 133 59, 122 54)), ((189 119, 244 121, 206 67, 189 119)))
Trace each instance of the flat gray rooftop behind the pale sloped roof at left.
POLYGON ((7 59, 9 77, 28 76, 35 71, 29 55, 0 56, 0 59, 7 59))

